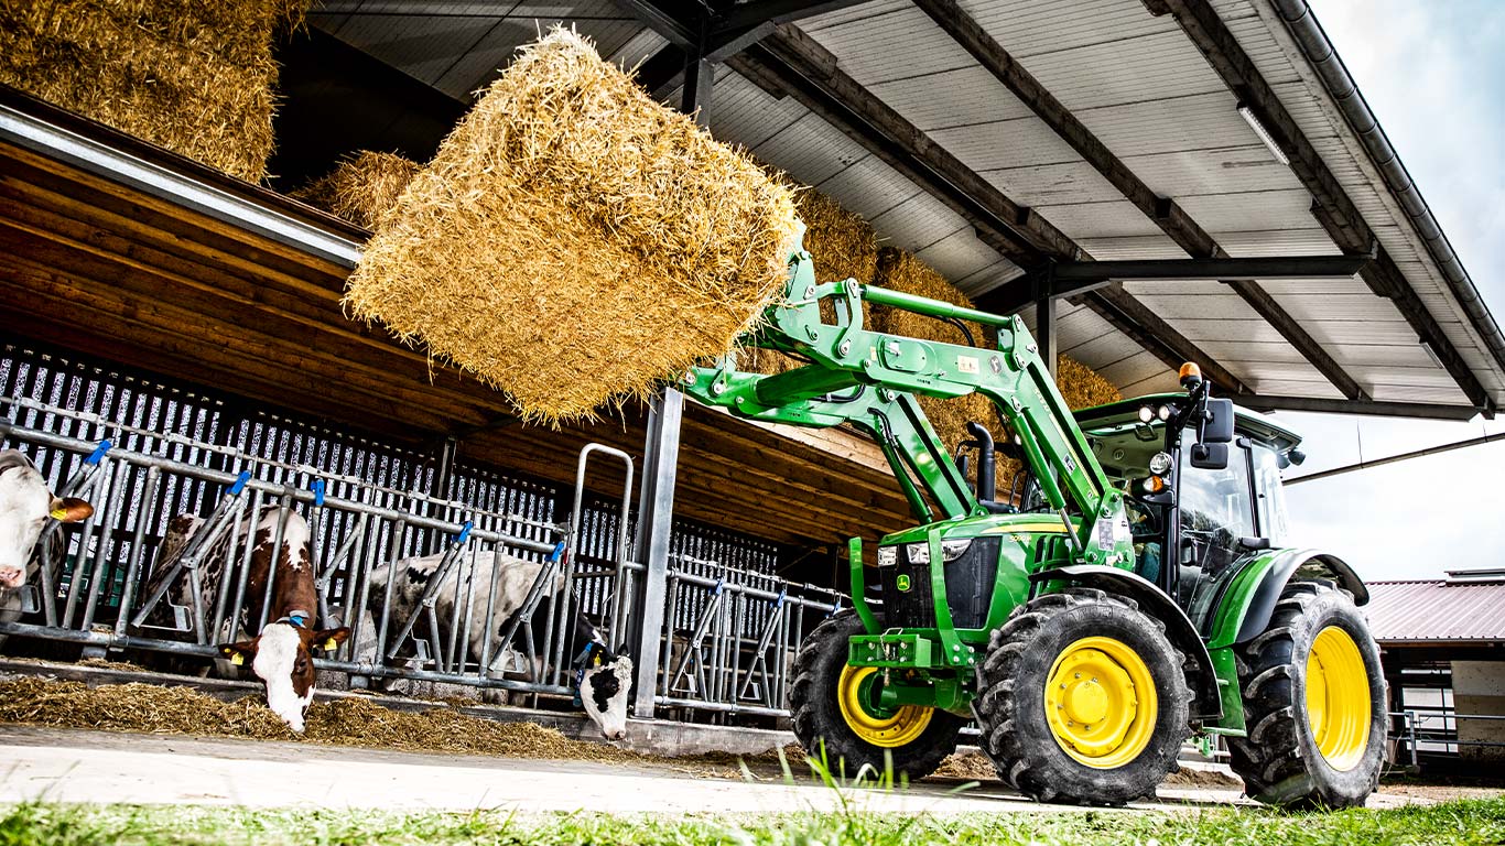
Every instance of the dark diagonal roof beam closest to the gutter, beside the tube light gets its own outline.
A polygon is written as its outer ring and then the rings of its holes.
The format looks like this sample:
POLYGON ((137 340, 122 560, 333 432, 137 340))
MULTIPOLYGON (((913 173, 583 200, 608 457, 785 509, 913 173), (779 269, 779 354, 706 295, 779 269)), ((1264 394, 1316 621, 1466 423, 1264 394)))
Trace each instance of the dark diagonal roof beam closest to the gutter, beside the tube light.
POLYGON ((1361 271, 1361 278, 1377 295, 1389 298, 1401 316, 1412 325, 1421 340, 1437 355, 1443 369, 1458 384, 1458 388, 1476 409, 1493 412, 1494 403, 1463 360, 1458 348, 1443 334, 1436 318, 1427 310, 1406 275, 1395 266, 1383 247, 1376 247, 1374 232, 1359 214, 1353 200, 1338 184, 1338 178, 1317 154, 1317 149, 1302 132, 1296 119, 1275 95, 1254 60, 1245 53, 1239 39, 1207 0, 1154 0, 1147 5, 1154 12, 1168 9, 1192 44, 1207 57, 1207 63, 1222 77, 1228 90, 1249 107, 1266 131, 1290 158, 1291 172, 1311 193, 1314 214, 1329 238, 1345 253, 1376 250, 1376 260, 1361 271))

